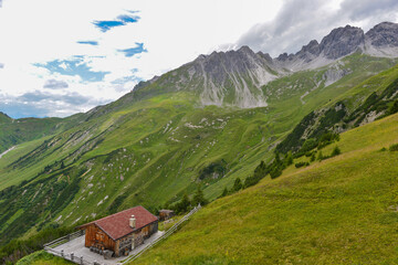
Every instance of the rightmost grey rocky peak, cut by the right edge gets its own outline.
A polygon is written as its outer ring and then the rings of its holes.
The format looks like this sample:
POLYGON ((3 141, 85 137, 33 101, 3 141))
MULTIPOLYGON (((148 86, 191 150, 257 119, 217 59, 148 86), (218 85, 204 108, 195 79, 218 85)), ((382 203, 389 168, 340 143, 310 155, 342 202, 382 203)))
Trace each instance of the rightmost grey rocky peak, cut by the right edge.
POLYGON ((366 38, 376 47, 398 46, 398 24, 391 22, 377 24, 366 33, 366 38))

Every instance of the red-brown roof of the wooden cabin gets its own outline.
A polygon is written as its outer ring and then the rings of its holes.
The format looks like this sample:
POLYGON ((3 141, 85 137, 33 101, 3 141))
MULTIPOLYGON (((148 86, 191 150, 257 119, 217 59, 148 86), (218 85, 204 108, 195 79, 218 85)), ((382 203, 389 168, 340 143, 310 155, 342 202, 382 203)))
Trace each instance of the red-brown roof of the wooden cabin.
MULTIPOLYGON (((96 220, 91 222, 90 224, 94 223, 100 229, 102 229, 107 235, 109 235, 113 240, 118 240, 135 230, 139 230, 158 219, 148 212, 143 206, 135 206, 132 209, 124 210, 122 212, 112 214, 109 216, 96 220), (129 226, 129 219, 134 215, 136 219, 136 227, 132 229, 129 226)), ((86 224, 85 224, 86 225, 86 224)), ((85 226, 82 225, 82 226, 85 226)))

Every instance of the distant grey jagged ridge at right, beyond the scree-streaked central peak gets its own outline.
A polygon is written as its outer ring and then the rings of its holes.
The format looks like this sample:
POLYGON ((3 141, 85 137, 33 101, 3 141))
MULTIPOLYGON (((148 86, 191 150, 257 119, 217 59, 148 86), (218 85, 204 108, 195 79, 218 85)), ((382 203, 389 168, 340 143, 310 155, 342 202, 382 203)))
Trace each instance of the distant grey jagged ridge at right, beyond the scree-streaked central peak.
POLYGON ((312 40, 297 53, 283 53, 273 61, 296 72, 327 65, 357 51, 371 56, 397 57, 398 24, 383 22, 366 33, 360 28, 350 25, 337 28, 324 36, 321 43, 312 40))

